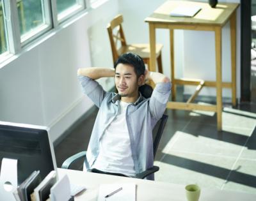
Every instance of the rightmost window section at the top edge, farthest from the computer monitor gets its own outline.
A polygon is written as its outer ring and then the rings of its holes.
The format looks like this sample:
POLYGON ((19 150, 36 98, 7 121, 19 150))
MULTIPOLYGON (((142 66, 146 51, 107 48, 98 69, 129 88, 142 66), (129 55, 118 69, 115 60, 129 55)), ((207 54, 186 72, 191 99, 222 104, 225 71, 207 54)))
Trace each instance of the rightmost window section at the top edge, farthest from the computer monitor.
POLYGON ((83 0, 56 0, 57 1, 57 12, 58 12, 58 21, 61 22, 69 15, 76 13, 79 10, 84 9, 83 0))

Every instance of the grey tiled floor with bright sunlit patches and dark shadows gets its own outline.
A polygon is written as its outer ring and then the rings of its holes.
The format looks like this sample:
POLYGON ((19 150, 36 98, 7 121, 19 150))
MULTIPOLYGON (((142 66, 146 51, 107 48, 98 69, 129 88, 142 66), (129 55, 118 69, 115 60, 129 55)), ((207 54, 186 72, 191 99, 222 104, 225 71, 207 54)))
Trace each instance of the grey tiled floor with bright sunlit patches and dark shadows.
MULTIPOLYGON (((97 110, 55 147, 58 167, 84 151, 97 110)), ((168 121, 159 144, 156 181, 197 183, 204 188, 256 193, 256 104, 224 104, 223 131, 214 112, 166 110, 168 121)), ((81 170, 82 161, 74 168, 81 170)))

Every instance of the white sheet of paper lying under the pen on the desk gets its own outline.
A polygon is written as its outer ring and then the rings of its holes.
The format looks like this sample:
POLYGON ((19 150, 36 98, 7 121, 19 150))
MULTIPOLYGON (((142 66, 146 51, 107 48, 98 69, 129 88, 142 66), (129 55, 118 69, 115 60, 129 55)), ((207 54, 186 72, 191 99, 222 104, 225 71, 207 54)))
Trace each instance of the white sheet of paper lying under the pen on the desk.
POLYGON ((136 201, 136 184, 100 184, 98 201, 136 201), (105 198, 106 195, 122 188, 121 191, 105 198))

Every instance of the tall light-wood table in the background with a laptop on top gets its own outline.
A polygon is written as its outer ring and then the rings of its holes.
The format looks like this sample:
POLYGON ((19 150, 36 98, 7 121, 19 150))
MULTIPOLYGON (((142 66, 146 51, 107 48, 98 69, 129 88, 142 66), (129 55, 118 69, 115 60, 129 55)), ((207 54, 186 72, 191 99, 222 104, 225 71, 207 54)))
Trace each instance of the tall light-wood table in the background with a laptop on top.
POLYGON ((145 19, 149 25, 150 36, 150 71, 156 71, 156 29, 170 29, 170 59, 172 78, 172 101, 167 103, 167 108, 181 110, 206 110, 217 112, 217 128, 221 130, 222 124, 222 87, 232 89, 232 105, 236 105, 236 9, 237 3, 218 3, 216 8, 211 8, 208 3, 195 1, 166 1, 157 10, 145 19), (177 6, 200 6, 200 10, 194 17, 170 17, 170 12, 177 6), (231 40, 231 82, 222 82, 221 73, 221 29, 230 20, 231 40), (200 79, 175 78, 174 69, 174 29, 189 29, 195 31, 214 31, 216 53, 216 81, 200 79), (195 94, 186 103, 175 102, 176 85, 198 86, 195 94), (198 105, 191 103, 195 100, 202 87, 216 87, 216 105, 198 105))

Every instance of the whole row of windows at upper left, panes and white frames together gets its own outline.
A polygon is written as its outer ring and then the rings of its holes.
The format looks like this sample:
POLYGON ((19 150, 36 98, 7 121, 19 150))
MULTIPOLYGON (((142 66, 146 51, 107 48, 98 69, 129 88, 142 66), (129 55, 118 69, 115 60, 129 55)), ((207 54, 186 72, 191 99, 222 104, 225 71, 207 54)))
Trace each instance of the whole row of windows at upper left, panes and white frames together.
POLYGON ((0 63, 78 11, 87 0, 0 0, 0 63), (4 54, 6 52, 6 54, 4 54))

